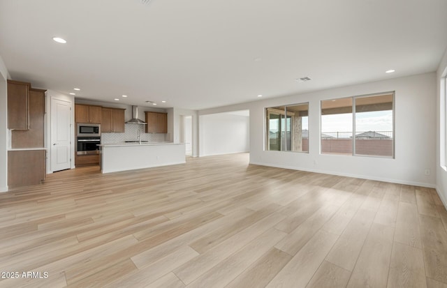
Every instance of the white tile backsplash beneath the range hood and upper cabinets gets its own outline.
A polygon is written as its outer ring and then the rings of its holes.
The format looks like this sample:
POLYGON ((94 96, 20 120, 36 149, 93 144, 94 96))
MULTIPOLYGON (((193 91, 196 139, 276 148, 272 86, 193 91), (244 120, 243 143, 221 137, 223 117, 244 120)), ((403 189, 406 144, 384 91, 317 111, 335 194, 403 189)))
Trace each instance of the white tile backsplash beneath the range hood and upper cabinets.
POLYGON ((124 133, 101 133, 101 143, 135 141, 138 140, 138 131, 140 131, 141 141, 164 142, 167 139, 167 134, 145 133, 145 126, 140 124, 125 124, 124 131, 124 133))

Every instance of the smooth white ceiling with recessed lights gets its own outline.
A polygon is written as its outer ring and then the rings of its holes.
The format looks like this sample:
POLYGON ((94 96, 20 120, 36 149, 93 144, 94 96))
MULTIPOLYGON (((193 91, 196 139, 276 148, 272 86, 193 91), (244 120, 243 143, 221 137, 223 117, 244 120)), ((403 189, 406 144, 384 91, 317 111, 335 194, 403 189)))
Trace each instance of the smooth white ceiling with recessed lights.
POLYGON ((13 79, 129 105, 205 109, 426 73, 446 47, 446 0, 0 0, 13 79))

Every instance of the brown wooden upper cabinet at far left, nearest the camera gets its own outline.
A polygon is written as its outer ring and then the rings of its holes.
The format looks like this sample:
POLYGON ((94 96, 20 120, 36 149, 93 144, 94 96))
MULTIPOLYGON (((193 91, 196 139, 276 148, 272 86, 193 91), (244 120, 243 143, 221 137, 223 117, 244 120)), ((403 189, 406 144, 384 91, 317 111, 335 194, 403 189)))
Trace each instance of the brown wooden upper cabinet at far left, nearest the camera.
POLYGON ((31 84, 8 80, 8 128, 29 129, 29 88, 31 84))

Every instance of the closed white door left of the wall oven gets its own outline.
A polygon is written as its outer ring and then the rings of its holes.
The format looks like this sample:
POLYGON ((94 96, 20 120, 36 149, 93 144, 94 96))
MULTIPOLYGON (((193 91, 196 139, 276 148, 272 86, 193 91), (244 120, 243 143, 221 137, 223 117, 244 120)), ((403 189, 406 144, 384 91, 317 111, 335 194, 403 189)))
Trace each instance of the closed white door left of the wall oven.
POLYGON ((71 167, 71 103, 51 100, 51 170, 71 167))

